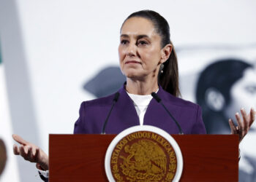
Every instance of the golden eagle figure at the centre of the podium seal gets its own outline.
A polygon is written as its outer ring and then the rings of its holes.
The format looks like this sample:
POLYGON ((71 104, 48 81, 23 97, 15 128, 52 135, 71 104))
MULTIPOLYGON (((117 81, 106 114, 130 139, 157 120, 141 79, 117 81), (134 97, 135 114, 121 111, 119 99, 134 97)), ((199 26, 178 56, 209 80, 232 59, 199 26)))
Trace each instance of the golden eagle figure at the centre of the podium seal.
POLYGON ((159 181, 166 173, 167 159, 165 152, 157 143, 141 140, 132 146, 125 146, 124 151, 129 155, 120 156, 122 173, 128 181, 159 181), (138 173, 137 175, 135 175, 138 173))

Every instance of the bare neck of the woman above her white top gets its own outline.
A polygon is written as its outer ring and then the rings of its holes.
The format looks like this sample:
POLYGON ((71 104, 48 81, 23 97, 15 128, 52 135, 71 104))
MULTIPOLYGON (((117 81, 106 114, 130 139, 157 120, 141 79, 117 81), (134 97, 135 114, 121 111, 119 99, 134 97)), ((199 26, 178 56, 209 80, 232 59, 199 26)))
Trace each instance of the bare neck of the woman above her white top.
POLYGON ((158 90, 157 80, 138 81, 127 78, 126 90, 135 95, 150 95, 158 90))

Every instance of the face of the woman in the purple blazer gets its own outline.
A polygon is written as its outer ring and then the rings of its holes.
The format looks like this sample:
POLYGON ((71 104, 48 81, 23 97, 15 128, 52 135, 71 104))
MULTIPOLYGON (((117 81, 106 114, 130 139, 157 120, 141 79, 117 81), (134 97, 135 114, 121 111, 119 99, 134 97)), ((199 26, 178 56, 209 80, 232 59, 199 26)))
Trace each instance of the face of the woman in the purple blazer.
POLYGON ((127 78, 157 78, 163 52, 153 23, 143 17, 129 18, 121 28, 118 54, 121 71, 127 78))

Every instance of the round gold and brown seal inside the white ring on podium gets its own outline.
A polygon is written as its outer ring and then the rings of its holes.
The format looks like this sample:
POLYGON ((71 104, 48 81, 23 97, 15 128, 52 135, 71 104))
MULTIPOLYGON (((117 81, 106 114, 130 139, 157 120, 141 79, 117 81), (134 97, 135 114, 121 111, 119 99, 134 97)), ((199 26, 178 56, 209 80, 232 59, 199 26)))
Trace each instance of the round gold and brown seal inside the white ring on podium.
POLYGON ((154 132, 133 132, 113 149, 110 168, 116 181, 172 181, 176 153, 170 143, 154 132))

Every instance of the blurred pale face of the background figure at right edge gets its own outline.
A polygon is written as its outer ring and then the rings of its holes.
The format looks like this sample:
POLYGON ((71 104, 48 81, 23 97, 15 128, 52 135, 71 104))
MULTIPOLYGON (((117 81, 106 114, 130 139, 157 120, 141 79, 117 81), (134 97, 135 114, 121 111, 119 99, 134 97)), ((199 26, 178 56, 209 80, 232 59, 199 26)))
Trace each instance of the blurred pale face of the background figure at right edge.
MULTIPOLYGON (((225 115, 234 121, 236 121, 235 114, 240 111, 240 108, 244 108, 247 114, 250 108, 256 108, 256 70, 254 68, 247 68, 244 76, 233 84, 230 100, 230 104, 225 108, 225 115)), ((252 127, 256 128, 256 124, 252 127)))

